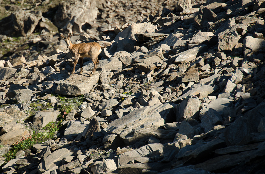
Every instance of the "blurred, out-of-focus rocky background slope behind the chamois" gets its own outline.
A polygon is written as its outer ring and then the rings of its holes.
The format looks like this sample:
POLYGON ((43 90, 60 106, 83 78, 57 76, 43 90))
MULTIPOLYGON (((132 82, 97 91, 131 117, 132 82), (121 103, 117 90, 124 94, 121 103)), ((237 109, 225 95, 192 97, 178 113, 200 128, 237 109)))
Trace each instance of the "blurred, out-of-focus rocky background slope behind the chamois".
POLYGON ((99 40, 98 35, 104 30, 142 21, 150 14, 160 15, 163 7, 175 6, 176 1, 172 0, 3 0, 0 1, 0 58, 10 60, 23 55, 31 61, 39 53, 49 56, 54 49, 66 49, 58 39, 58 30, 75 35, 86 32, 99 40))

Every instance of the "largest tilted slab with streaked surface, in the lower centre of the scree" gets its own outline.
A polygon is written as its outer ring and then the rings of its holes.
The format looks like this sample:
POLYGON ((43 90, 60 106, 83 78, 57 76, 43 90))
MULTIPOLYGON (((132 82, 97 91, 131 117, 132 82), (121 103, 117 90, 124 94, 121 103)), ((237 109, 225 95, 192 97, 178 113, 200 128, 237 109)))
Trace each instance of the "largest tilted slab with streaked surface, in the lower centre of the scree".
MULTIPOLYGON (((136 109, 120 119, 116 119, 107 127, 107 134, 103 139, 105 148, 109 147, 114 141, 114 137, 119 135, 124 144, 132 142, 142 143, 151 137, 151 132, 164 125, 168 114, 173 106, 170 104, 158 104, 136 109)), ((119 147, 119 145, 118 145, 119 147)))

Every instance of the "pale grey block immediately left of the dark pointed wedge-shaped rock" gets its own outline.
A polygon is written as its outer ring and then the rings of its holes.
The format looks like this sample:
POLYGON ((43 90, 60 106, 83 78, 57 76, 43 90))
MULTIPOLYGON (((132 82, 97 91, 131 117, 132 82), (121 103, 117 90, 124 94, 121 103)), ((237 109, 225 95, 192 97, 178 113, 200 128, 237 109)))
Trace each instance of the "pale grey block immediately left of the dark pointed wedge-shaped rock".
POLYGON ((67 123, 67 128, 64 131, 64 136, 72 138, 77 137, 79 134, 84 132, 86 127, 87 125, 82 124, 82 122, 71 120, 67 123))

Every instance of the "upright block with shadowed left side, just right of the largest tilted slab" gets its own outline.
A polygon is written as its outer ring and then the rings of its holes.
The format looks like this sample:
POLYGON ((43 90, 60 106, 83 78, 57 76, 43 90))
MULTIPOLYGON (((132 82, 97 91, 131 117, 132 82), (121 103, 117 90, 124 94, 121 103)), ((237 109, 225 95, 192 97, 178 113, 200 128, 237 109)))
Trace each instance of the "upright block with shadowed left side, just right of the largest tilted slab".
POLYGON ((182 122, 187 118, 199 116, 200 100, 195 96, 188 96, 180 104, 176 105, 176 122, 182 122))

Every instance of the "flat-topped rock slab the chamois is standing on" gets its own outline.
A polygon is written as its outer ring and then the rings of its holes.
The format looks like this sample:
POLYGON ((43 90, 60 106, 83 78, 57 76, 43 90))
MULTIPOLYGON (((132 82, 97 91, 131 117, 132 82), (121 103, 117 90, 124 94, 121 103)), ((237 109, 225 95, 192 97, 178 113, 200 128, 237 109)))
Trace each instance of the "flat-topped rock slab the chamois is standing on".
POLYGON ((94 75, 89 77, 91 71, 84 71, 83 74, 73 74, 62 80, 55 92, 62 95, 78 96, 90 92, 90 89, 97 84, 99 73, 95 71, 94 75))

